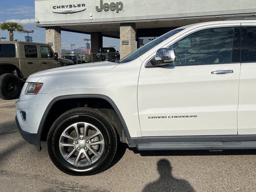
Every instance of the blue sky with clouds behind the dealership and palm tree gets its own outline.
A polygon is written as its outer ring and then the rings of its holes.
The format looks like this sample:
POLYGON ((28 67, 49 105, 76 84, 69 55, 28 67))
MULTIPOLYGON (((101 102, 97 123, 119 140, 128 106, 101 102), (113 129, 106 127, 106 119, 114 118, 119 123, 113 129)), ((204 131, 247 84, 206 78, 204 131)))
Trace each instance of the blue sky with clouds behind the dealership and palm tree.
MULTIPOLYGON (((0 0, 0 23, 6 21, 18 22, 24 26, 26 30, 34 30, 29 35, 33 37, 33 42, 45 43, 45 29, 36 27, 35 19, 35 2, 34 0, 0 0)), ((14 39, 25 41, 26 33, 14 32, 14 39)), ((9 40, 9 32, 0 30, 0 37, 6 37, 9 40)), ((90 38, 88 34, 79 34, 72 32, 61 32, 62 49, 70 50, 70 44, 76 44, 73 49, 84 47, 84 38, 90 38)), ((116 50, 120 50, 120 40, 115 38, 103 38, 103 46, 116 46, 116 50)))

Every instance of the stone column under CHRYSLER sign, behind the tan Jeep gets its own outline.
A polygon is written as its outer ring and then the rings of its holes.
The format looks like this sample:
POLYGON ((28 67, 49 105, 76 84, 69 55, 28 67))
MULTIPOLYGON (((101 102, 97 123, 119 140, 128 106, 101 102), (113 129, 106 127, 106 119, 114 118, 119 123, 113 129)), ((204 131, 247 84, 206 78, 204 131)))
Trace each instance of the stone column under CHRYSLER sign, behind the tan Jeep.
POLYGON ((61 28, 58 26, 45 28, 46 43, 52 43, 52 49, 61 57, 61 28))

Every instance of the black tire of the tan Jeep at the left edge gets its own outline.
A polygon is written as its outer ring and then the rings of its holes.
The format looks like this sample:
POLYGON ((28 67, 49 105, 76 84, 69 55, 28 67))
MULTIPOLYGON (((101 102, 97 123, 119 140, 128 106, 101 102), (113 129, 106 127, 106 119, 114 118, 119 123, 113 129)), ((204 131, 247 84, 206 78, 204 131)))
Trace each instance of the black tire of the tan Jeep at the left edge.
POLYGON ((0 76, 0 98, 4 100, 16 99, 20 96, 20 79, 11 73, 5 73, 0 76))

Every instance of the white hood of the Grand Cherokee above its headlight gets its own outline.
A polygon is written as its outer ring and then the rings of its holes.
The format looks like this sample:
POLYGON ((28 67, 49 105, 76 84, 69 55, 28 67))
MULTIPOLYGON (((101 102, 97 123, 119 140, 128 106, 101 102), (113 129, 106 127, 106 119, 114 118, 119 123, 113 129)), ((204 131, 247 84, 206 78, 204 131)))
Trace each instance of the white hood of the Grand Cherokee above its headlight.
POLYGON ((58 75, 107 71, 114 68, 117 65, 118 63, 104 61, 104 62, 78 64, 78 65, 72 65, 72 66, 66 66, 66 67, 53 68, 53 69, 40 71, 30 75, 27 79, 27 82, 38 82, 41 78, 46 76, 58 76, 58 75))

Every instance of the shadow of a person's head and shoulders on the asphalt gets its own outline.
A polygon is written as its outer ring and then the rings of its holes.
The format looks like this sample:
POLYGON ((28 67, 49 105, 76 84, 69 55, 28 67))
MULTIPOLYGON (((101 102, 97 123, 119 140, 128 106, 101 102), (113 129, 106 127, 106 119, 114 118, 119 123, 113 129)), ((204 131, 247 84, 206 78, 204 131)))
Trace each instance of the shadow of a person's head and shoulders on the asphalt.
POLYGON ((160 177, 158 180, 149 183, 143 192, 194 192, 194 188, 188 181, 177 179, 172 176, 172 166, 166 159, 158 161, 157 164, 160 177))

